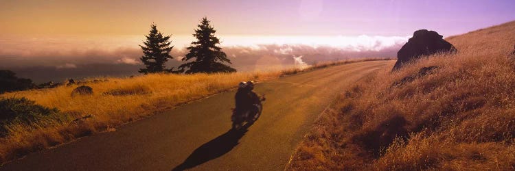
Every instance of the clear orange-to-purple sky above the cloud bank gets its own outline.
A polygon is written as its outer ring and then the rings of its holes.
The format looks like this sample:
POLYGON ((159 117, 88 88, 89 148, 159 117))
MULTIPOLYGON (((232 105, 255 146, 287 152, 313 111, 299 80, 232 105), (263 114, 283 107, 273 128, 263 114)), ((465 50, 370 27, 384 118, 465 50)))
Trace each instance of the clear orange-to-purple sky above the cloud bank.
POLYGON ((515 1, 306 0, 134 1, 1 0, 0 34, 192 34, 207 16, 219 34, 406 36, 435 29, 444 36, 515 18, 515 1))

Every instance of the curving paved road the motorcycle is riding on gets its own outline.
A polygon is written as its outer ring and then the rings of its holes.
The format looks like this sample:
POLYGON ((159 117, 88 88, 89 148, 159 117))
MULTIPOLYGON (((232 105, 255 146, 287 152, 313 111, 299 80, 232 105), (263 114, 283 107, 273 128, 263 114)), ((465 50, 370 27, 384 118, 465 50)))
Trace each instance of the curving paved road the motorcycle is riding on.
POLYGON ((332 66, 258 83, 266 94, 248 131, 229 131, 234 91, 33 153, 0 170, 283 170, 310 124, 343 88, 393 64, 332 66))

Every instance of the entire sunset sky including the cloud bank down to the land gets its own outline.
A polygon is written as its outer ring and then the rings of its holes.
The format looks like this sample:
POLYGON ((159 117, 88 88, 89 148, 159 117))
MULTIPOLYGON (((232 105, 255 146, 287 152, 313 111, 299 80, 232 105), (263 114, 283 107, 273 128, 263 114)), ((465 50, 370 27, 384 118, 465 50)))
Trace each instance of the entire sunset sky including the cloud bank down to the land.
POLYGON ((513 0, 0 0, 0 69, 138 65, 151 23, 172 35, 178 63, 204 16, 240 70, 290 64, 293 55, 395 57, 417 29, 464 34, 515 20, 514 8, 513 0))

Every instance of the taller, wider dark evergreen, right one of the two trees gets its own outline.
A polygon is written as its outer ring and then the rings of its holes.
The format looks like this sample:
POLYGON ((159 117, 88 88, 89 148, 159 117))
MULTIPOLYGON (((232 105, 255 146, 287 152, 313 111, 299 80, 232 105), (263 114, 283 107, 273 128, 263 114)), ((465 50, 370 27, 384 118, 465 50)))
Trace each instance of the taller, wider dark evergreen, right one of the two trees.
POLYGON ((207 18, 202 18, 198 29, 196 29, 195 34, 193 34, 197 41, 192 42, 192 45, 187 48, 190 52, 187 53, 182 60, 188 61, 193 58, 195 59, 192 62, 187 62, 179 66, 181 71, 187 68, 185 71, 187 74, 236 72, 236 69, 223 64, 224 62, 231 64, 231 61, 222 51, 222 48, 216 46, 216 44, 220 44, 220 40, 214 36, 215 32, 216 30, 209 25, 207 18))

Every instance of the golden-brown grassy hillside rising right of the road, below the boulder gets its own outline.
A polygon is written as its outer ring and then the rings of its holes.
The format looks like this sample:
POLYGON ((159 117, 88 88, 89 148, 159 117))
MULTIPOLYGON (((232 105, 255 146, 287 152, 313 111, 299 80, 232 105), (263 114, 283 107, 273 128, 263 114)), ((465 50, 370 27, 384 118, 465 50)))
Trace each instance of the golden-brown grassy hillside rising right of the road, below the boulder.
POLYGON ((515 22, 446 40, 459 53, 343 91, 287 169, 515 170, 515 22))

